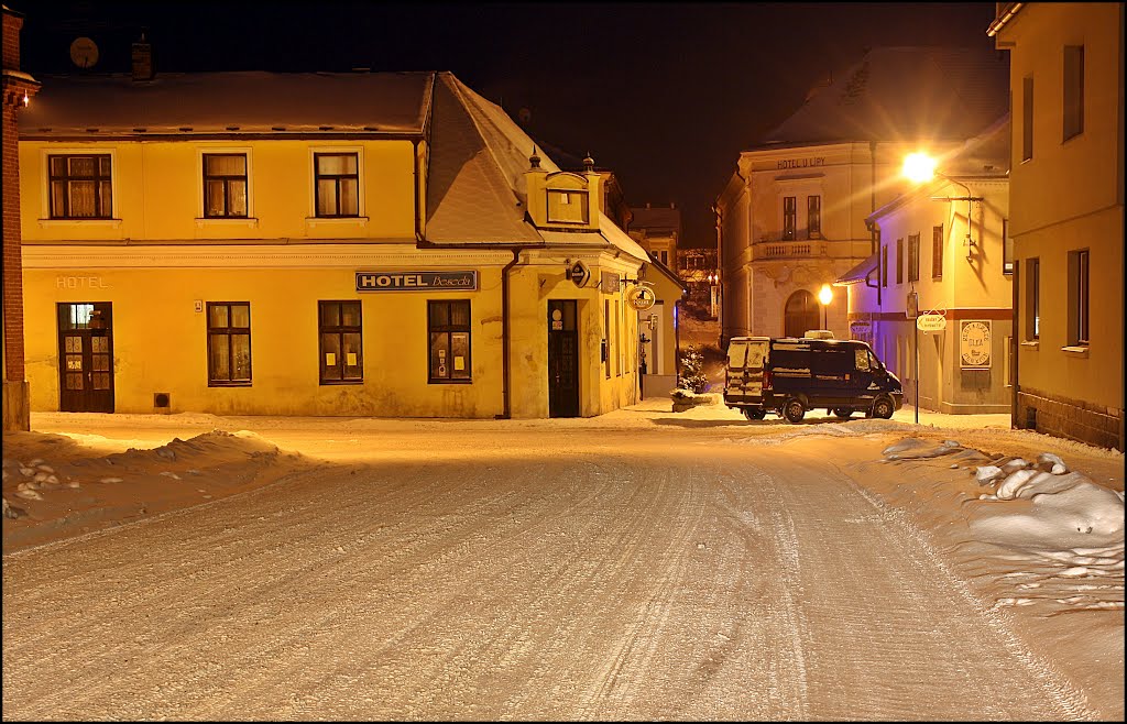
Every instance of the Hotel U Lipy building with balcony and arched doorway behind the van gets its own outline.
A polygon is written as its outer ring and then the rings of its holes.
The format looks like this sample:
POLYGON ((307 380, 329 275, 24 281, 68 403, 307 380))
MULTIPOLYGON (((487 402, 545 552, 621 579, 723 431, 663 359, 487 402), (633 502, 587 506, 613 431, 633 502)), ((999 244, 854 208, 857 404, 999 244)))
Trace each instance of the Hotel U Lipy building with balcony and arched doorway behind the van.
MULTIPOLYGON (((990 48, 875 48, 743 151, 715 205, 721 343, 823 327, 849 337, 845 295, 823 309, 820 287, 877 252, 866 220, 909 190, 905 155, 943 157, 982 133, 1006 110, 1008 78, 990 48)), ((880 314, 903 315, 904 302, 877 291, 880 314)))

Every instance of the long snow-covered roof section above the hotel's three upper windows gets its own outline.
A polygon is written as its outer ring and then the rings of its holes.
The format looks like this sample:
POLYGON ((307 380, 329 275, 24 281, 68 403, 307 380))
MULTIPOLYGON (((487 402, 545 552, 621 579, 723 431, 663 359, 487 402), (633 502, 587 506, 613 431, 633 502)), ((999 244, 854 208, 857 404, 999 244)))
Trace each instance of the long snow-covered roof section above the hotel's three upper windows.
POLYGON ((420 134, 433 73, 43 75, 21 137, 184 133, 420 134), (183 131, 188 128, 190 131, 183 131), (94 129, 94 131, 91 131, 94 129))

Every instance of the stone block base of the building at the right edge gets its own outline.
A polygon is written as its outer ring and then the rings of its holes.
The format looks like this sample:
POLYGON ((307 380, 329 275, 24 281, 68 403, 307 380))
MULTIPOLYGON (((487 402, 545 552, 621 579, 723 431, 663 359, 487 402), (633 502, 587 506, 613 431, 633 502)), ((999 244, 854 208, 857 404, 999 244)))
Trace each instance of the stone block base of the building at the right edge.
POLYGON ((1124 411, 1083 400, 1022 387, 1018 392, 1018 414, 1013 427, 1088 443, 1097 447, 1124 449, 1124 411))

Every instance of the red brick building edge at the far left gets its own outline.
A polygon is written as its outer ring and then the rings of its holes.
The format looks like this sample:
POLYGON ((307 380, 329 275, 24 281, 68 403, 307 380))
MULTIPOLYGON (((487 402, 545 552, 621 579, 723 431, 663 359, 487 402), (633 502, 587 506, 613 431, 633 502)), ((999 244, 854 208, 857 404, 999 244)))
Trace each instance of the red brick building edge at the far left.
POLYGON ((17 116, 39 89, 19 69, 24 16, 3 6, 3 430, 30 429, 30 396, 24 347, 24 275, 17 116))

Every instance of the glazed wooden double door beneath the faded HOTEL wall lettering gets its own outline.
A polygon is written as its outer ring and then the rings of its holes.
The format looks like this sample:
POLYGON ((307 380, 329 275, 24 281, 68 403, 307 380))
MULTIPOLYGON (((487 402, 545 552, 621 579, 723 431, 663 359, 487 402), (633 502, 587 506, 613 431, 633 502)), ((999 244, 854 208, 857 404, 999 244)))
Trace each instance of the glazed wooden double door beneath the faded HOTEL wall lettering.
POLYGON ((59 410, 114 411, 114 325, 109 302, 63 302, 59 311, 59 410))

